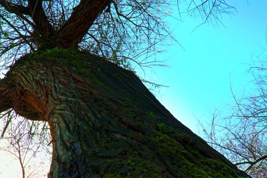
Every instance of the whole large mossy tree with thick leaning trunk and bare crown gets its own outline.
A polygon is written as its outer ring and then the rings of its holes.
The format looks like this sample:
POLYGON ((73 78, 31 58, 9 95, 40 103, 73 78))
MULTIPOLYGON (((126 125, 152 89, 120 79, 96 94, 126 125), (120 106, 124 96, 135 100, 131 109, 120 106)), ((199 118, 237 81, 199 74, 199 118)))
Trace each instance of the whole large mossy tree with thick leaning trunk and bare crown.
MULTIPOLYGON (((212 4, 207 18, 221 3, 212 4)), ((29 139, 33 130, 42 137, 38 127, 47 123, 53 149, 48 177, 246 176, 177 121, 130 71, 134 64, 150 65, 145 60, 158 52, 157 44, 173 39, 163 24, 167 1, 0 5, 1 62, 8 70, 0 80, 2 136, 12 110, 33 121, 29 139)))

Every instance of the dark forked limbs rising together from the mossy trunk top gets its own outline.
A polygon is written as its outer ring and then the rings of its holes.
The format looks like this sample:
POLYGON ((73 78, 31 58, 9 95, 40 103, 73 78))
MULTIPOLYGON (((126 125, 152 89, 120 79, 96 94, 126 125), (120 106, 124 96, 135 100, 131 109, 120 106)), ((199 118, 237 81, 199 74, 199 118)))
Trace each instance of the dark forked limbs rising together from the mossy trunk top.
MULTIPOLYGON (((99 14, 110 4, 110 0, 82 0, 78 6, 73 9, 69 19, 63 26, 55 32, 55 27, 51 25, 43 9, 41 0, 27 0, 28 7, 9 3, 6 0, 0 0, 0 5, 8 12, 14 13, 26 20, 35 29, 35 33, 41 36, 41 40, 36 41, 47 43, 48 47, 76 48, 82 37, 93 25, 99 14), (25 19, 24 15, 31 16, 33 23, 25 19)), ((36 38, 36 36, 35 36, 36 38)), ((37 47, 43 47, 37 44, 37 47)), ((46 46, 46 44, 45 44, 46 46)))

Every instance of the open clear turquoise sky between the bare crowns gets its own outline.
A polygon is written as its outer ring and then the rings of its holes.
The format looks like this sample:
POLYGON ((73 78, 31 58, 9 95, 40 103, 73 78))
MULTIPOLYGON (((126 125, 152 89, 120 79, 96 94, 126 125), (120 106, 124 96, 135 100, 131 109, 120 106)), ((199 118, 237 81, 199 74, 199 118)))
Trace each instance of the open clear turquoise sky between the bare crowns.
MULTIPOLYGON (((217 107, 232 103, 233 91, 242 92, 251 76, 252 56, 266 47, 267 1, 232 1, 238 11, 223 15, 223 25, 203 24, 200 18, 172 19, 174 36, 185 48, 173 45, 159 58, 169 58, 169 68, 156 68, 156 81, 170 87, 156 94, 183 124, 198 133, 198 121, 209 122, 217 107)), ((155 78, 154 78, 155 80, 155 78)))

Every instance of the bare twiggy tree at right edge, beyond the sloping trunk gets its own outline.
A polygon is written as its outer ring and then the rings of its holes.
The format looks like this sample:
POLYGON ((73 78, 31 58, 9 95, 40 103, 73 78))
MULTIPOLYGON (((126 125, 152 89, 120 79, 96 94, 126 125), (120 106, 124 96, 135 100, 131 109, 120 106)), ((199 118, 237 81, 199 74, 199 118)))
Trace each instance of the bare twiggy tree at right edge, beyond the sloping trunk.
POLYGON ((215 111, 210 129, 204 131, 209 143, 240 169, 266 177, 266 61, 257 61, 249 70, 254 80, 242 95, 231 88, 234 104, 226 113, 215 111))

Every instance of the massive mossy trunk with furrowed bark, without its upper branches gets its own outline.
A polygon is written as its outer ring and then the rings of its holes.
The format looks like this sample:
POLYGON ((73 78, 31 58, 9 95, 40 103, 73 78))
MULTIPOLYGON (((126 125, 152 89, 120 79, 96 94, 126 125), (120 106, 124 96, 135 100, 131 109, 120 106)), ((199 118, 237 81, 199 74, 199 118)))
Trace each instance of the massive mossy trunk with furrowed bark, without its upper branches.
POLYGON ((49 123, 48 177, 247 176, 185 127, 133 72, 74 50, 27 54, 0 81, 0 111, 49 123))

